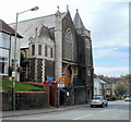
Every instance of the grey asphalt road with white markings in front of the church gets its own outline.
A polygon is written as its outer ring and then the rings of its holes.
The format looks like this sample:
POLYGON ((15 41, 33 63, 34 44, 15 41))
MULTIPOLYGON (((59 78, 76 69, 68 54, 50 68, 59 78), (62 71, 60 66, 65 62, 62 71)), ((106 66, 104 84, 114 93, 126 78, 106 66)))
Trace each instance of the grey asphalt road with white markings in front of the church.
POLYGON ((105 108, 80 108, 51 113, 7 118, 7 120, 129 120, 129 101, 109 101, 105 108))

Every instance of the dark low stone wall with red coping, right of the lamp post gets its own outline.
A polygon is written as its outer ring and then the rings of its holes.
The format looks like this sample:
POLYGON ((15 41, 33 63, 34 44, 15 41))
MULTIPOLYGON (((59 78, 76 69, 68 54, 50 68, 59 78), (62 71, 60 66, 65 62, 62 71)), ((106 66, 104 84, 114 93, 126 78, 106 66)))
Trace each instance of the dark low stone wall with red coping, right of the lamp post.
POLYGON ((26 109, 39 109, 47 108, 48 96, 44 91, 17 91, 16 97, 16 110, 26 110, 26 109))

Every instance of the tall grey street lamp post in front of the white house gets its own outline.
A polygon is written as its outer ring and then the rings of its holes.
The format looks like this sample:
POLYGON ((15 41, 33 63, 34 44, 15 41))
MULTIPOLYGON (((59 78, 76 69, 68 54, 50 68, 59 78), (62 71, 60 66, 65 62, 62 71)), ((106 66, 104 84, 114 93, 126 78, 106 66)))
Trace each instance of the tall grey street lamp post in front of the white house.
POLYGON ((28 11, 36 11, 38 10, 38 7, 32 8, 29 10, 26 11, 22 11, 20 13, 16 13, 16 22, 15 22, 15 39, 14 39, 14 71, 12 73, 13 75, 13 87, 14 87, 14 91, 13 91, 13 110, 15 110, 15 82, 16 82, 16 36, 17 36, 17 19, 19 19, 19 14, 28 12, 28 11))

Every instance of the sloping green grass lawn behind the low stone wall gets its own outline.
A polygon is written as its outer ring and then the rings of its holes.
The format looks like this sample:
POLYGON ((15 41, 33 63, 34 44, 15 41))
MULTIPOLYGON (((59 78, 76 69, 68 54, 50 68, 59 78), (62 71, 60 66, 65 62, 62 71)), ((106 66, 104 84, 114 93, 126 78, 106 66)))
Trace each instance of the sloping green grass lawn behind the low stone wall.
MULTIPOLYGON (((8 87, 13 87, 12 81, 3 81, 2 82, 2 90, 7 91, 8 87)), ((36 87, 31 84, 22 83, 22 82, 15 82, 15 90, 16 91, 46 91, 43 88, 36 87)))

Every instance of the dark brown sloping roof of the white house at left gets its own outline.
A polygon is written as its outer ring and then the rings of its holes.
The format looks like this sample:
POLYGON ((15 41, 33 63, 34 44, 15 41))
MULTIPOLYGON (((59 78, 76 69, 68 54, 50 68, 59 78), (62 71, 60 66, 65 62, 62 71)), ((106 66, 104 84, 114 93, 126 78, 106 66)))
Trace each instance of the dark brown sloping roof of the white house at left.
MULTIPOLYGON (((3 22, 2 20, 0 20, 0 30, 3 33, 7 33, 9 35, 13 35, 15 36, 15 30, 10 27, 5 22, 3 22)), ((19 38, 23 38, 20 34, 16 35, 19 38)))

